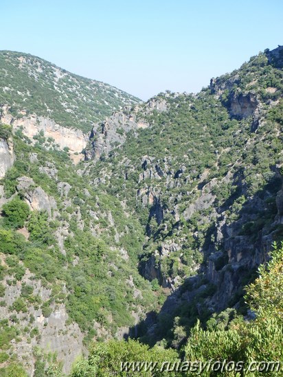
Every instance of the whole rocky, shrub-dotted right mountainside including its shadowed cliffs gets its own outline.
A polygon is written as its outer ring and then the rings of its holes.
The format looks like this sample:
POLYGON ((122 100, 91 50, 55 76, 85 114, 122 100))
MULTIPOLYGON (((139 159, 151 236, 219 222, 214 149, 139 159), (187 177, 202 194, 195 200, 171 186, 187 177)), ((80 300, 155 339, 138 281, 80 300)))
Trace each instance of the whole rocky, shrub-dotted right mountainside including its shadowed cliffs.
POLYGON ((107 157, 110 132, 94 127, 102 158, 85 174, 133 208, 146 231, 139 271, 173 293, 150 343, 178 345, 174 327, 185 338, 196 318, 227 306, 245 313, 243 286, 282 239, 282 69, 267 53, 198 95, 161 93, 133 108, 137 127, 107 157))

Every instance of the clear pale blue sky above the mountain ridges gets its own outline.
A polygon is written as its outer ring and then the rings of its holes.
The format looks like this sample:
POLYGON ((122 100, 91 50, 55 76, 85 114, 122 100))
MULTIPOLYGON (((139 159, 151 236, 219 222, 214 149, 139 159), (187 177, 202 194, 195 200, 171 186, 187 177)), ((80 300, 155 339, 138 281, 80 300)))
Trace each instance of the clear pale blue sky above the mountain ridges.
POLYGON ((141 99, 197 92, 283 45, 282 0, 1 0, 0 49, 32 53, 141 99))

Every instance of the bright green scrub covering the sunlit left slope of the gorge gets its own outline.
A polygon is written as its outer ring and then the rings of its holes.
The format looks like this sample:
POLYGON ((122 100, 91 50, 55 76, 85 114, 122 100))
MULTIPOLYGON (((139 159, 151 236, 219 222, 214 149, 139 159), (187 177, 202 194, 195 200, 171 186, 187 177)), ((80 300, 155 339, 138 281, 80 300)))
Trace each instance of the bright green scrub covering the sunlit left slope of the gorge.
MULTIPOLYGON (((115 197, 86 184, 76 174, 66 151, 47 151, 40 143, 32 147, 23 134, 13 139, 21 159, 16 160, 3 180, 5 195, 11 199, 3 205, 0 221, 0 255, 4 262, 1 280, 16 286, 28 269, 51 294, 46 300, 34 293, 33 285, 23 283, 21 295, 9 308, 10 319, 2 324, 3 350, 8 360, 15 357, 10 343, 15 335, 18 341, 39 337, 34 320, 28 321, 25 328, 18 325, 21 315, 29 314, 31 308, 40 308, 48 318, 64 303, 69 323, 78 324, 86 345, 93 337, 103 341, 114 336, 118 328, 133 326, 133 312, 156 307, 152 286, 136 267, 137 250, 144 242, 141 226, 124 212, 115 197), (36 156, 32 165, 31 153, 36 156), (19 187, 18 178, 23 176, 30 180, 27 189, 19 187), (56 207, 50 213, 40 209, 31 212, 25 202, 39 185, 50 202, 56 199, 56 207), (26 229, 28 240, 18 232, 19 228, 26 229), (56 232, 63 228, 68 231, 59 247, 56 232), (120 250, 126 254, 123 256, 120 250)), ((3 284, 0 294, 5 295, 3 284)))

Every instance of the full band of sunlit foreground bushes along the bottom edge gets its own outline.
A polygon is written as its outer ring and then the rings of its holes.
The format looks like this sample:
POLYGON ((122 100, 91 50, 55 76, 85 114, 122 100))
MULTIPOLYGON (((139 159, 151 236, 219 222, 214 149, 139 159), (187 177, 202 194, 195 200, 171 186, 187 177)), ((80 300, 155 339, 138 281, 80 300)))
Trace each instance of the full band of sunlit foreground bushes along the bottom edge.
MULTIPOLYGON (((166 369, 159 372, 163 363, 170 363, 171 369, 174 363, 178 364, 181 361, 225 361, 226 365, 230 365, 226 372, 203 370, 201 376, 262 376, 261 370, 249 372, 249 363, 283 360, 283 245, 275 245, 271 256, 271 262, 260 267, 258 278, 247 287, 247 302, 256 313, 255 320, 245 321, 242 316, 233 317, 225 311, 216 318, 209 319, 206 329, 203 329, 198 321, 190 332, 188 343, 183 347, 181 358, 173 350, 163 350, 157 346, 148 350, 146 345, 133 340, 93 344, 87 361, 76 363, 71 377, 127 376, 128 374, 120 369, 121 363, 125 361, 148 361, 157 364, 154 374, 141 370, 131 372, 131 376, 195 376, 196 372, 166 373, 166 369), (238 371, 233 371, 233 365, 239 365, 238 371)), ((258 365, 262 367, 262 364, 258 365)), ((281 373, 280 370, 269 369, 264 375, 281 376, 281 373)))

